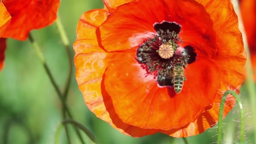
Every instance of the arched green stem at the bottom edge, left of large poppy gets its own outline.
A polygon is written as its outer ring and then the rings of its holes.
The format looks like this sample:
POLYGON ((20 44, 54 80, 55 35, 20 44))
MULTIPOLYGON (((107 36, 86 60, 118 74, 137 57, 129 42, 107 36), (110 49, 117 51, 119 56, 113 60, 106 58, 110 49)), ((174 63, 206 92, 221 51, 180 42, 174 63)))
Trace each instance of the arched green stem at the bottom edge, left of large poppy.
POLYGON ((61 129, 62 129, 63 125, 66 125, 66 124, 72 124, 76 128, 80 128, 90 138, 90 140, 92 141, 93 144, 97 144, 93 134, 85 126, 83 126, 82 124, 80 124, 79 122, 74 121, 74 120, 64 120, 59 124, 57 131, 56 131, 55 144, 59 144, 59 137, 60 137, 61 129))

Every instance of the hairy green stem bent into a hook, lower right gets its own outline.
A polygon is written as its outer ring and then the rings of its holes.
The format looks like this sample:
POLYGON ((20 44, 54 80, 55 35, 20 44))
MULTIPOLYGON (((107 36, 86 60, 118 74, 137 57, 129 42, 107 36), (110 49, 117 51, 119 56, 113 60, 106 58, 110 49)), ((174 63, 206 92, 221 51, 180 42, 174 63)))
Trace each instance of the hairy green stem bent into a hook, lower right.
POLYGON ((224 92, 221 102, 220 102, 220 111, 219 111, 219 122, 218 122, 218 139, 217 144, 221 144, 222 141, 222 123, 223 123, 223 111, 224 111, 224 104, 226 101, 227 95, 233 95, 236 98, 236 102, 240 109, 240 144, 244 144, 244 112, 243 112, 243 105, 240 100, 240 96, 236 94, 234 91, 226 91, 224 92))

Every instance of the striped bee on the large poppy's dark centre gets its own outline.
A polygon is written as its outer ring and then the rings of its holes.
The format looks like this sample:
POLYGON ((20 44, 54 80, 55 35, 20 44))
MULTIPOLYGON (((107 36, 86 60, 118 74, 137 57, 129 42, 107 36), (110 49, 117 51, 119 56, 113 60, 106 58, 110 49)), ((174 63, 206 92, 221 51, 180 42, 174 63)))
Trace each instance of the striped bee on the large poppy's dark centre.
POLYGON ((174 85, 174 91, 178 94, 182 90, 183 82, 187 79, 186 76, 184 76, 184 67, 181 62, 174 65, 173 75, 172 83, 174 85))

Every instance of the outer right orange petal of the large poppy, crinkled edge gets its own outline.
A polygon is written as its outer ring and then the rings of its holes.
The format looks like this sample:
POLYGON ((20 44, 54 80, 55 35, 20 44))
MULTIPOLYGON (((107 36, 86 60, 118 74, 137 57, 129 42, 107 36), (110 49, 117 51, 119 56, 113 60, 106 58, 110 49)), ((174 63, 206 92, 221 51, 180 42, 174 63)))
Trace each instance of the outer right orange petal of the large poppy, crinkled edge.
MULTIPOLYGON (((197 0, 197 2, 205 6, 213 21, 216 22, 213 25, 213 29, 217 33, 218 50, 214 61, 220 69, 221 87, 216 95, 213 107, 202 113, 196 121, 183 128, 161 131, 173 137, 188 137, 200 134, 206 129, 213 127, 218 121, 223 91, 239 89, 244 79, 246 54, 243 49, 242 36, 238 29, 237 16, 233 10, 232 4, 229 0, 197 0)), ((223 117, 233 108, 235 101, 232 95, 227 97, 223 117)))

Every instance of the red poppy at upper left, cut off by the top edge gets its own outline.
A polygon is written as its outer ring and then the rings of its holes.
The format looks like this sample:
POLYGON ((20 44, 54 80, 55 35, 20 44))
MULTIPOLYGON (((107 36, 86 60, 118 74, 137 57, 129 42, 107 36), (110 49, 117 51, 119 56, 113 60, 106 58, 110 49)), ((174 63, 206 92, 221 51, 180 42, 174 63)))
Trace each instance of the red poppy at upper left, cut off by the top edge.
POLYGON ((59 3, 59 0, 4 0, 12 21, 3 37, 26 40, 30 30, 49 26, 56 20, 59 3))

